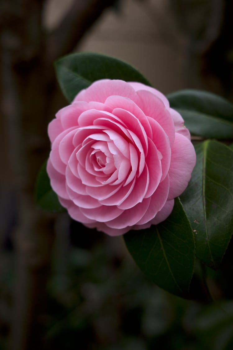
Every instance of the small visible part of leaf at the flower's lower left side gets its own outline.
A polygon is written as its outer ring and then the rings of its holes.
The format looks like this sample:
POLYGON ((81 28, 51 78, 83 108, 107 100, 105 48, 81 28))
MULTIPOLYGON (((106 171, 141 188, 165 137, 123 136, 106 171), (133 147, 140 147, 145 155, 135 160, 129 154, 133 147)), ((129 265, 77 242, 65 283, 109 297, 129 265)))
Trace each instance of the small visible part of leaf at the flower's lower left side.
POLYGON ((53 212, 65 211, 58 201, 56 193, 50 186, 49 176, 46 172, 47 161, 42 165, 36 181, 36 203, 41 209, 53 212))

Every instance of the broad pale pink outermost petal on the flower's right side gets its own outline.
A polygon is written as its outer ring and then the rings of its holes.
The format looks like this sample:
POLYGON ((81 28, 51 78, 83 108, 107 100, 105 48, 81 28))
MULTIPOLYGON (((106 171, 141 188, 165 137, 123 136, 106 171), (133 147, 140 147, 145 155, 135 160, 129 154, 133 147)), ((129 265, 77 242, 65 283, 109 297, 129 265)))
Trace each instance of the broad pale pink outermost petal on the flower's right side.
POLYGON ((195 163, 196 153, 194 146, 185 136, 176 133, 168 171, 170 177, 168 199, 179 196, 185 190, 188 186, 195 163))

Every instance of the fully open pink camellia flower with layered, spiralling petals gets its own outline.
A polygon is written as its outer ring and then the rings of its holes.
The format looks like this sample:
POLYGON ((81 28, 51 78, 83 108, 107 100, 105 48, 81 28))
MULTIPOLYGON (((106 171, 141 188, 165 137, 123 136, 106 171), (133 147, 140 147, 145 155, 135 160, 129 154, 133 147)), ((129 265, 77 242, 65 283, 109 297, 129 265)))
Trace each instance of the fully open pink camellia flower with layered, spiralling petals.
POLYGON ((158 224, 196 162, 179 113, 152 87, 97 80, 48 128, 47 172, 70 216, 111 236, 158 224))

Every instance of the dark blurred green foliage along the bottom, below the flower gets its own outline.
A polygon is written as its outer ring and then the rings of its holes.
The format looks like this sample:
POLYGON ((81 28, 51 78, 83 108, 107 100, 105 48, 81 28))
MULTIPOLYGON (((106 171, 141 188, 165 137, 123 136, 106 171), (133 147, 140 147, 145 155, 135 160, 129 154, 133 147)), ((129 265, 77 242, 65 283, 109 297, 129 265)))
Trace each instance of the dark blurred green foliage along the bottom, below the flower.
MULTIPOLYGON (((227 280, 221 270, 207 268, 207 281, 218 302, 183 300, 145 278, 122 237, 86 229, 66 214, 59 215, 56 231, 41 317, 41 350, 232 349, 233 303, 220 300, 232 297, 229 271, 227 280)), ((10 245, 3 248, 1 350, 7 349, 15 269, 14 250, 10 245)), ((223 264, 230 256, 225 255, 223 264)))

